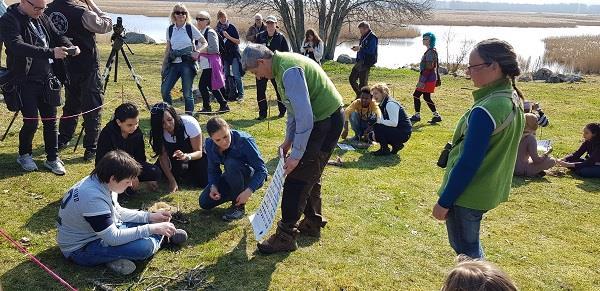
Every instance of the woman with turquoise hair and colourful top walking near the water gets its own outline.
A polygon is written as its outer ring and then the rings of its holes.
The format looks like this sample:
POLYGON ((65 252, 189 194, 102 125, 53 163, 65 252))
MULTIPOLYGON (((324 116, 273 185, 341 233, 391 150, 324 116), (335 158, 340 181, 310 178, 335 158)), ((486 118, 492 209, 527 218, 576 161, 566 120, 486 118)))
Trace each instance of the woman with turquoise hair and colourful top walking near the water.
POLYGON ((435 92, 435 87, 438 84, 438 54, 435 49, 436 38, 431 32, 423 34, 423 45, 427 48, 421 63, 419 64, 419 81, 417 82, 417 88, 413 93, 415 114, 410 118, 413 123, 421 121, 421 96, 427 103, 427 106, 433 112, 433 117, 429 123, 437 123, 442 121, 442 117, 437 112, 435 103, 431 99, 431 94, 435 92))

